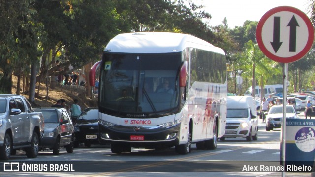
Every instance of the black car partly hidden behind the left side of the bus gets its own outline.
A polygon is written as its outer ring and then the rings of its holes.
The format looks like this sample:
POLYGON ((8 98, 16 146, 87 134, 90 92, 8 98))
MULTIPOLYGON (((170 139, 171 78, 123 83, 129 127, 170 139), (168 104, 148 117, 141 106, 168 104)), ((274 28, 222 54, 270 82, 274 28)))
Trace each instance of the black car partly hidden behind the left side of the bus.
POLYGON ((74 124, 74 147, 80 143, 90 147, 91 144, 99 144, 98 137, 98 108, 86 108, 74 124))

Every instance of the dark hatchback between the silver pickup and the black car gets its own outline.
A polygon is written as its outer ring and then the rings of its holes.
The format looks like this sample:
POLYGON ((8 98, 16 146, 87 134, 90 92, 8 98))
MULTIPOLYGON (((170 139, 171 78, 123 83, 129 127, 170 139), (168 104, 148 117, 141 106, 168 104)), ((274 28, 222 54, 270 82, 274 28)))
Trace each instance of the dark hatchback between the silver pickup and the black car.
POLYGON ((73 152, 73 123, 64 108, 34 108, 44 116, 44 135, 41 138, 40 150, 52 149, 54 155, 59 154, 60 147, 65 147, 68 153, 73 152))

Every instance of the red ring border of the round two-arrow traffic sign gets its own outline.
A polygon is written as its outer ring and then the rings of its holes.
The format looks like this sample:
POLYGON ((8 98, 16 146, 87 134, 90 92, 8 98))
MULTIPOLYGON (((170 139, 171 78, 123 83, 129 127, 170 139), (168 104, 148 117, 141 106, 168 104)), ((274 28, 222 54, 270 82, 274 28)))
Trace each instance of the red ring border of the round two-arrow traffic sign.
POLYGON ((256 39, 257 39, 257 44, 260 48, 260 50, 270 59, 280 62, 280 63, 291 63, 294 61, 297 61, 301 58, 303 58, 303 56, 305 56, 308 51, 310 51, 310 49, 312 48, 313 45, 313 41, 314 41, 314 29, 312 26, 312 23, 310 21, 310 19, 307 17, 307 15, 302 12, 301 10, 294 8, 294 7, 290 7, 290 6, 280 6, 280 7, 275 7, 271 10, 269 10, 268 12, 266 12, 261 19, 258 22, 257 28, 256 28, 256 39), (299 53, 297 53, 294 56, 291 57, 280 57, 277 55, 274 55, 273 53, 271 53, 270 51, 267 50, 267 48, 265 47, 265 45, 263 44, 262 41, 262 27, 265 24, 266 20, 272 16, 275 13, 278 12, 283 12, 283 11, 288 11, 288 12, 293 12, 295 14, 297 14, 298 16, 300 16, 303 21, 306 23, 308 31, 309 31, 309 37, 308 37, 308 41, 304 47, 304 49, 302 51, 300 51, 299 53))

